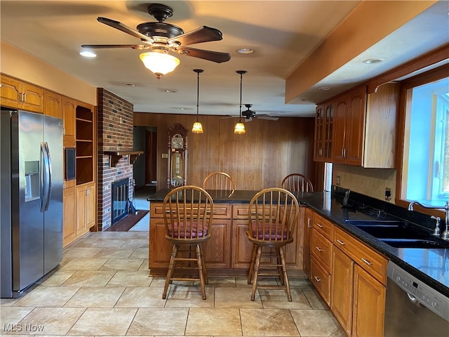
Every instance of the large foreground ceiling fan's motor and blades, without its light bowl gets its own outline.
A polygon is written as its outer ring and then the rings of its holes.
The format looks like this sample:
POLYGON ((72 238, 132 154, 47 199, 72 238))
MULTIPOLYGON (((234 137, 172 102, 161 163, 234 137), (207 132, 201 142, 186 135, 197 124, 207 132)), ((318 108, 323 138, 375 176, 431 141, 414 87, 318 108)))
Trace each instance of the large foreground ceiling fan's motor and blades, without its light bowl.
POLYGON ((152 15, 157 22, 142 22, 137 26, 137 30, 132 29, 123 23, 108 18, 97 18, 98 22, 119 29, 121 32, 137 37, 142 44, 83 44, 82 48, 132 48, 142 51, 158 51, 168 53, 173 51, 182 55, 202 58, 217 63, 227 62, 231 59, 229 53, 218 51, 205 51, 203 49, 186 47, 190 44, 199 44, 201 42, 220 41, 222 33, 220 30, 201 26, 190 32, 185 33, 182 28, 170 23, 164 22, 166 18, 173 15, 173 9, 163 4, 150 4, 148 13, 152 15))

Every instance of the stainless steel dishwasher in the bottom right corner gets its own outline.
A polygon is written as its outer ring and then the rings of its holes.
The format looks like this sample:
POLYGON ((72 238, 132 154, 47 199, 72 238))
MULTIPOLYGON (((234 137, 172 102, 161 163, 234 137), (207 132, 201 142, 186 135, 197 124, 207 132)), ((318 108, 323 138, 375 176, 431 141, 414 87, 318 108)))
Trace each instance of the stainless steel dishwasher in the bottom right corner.
POLYGON ((385 337, 448 337, 449 298, 391 261, 387 267, 385 337))

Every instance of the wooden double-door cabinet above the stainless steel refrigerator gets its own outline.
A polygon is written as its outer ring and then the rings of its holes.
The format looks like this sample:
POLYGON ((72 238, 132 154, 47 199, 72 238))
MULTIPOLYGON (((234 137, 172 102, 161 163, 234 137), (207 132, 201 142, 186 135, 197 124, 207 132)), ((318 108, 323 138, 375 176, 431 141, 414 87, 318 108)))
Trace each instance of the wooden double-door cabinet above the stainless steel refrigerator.
POLYGON ((0 105, 30 112, 43 112, 43 88, 1 74, 0 105))

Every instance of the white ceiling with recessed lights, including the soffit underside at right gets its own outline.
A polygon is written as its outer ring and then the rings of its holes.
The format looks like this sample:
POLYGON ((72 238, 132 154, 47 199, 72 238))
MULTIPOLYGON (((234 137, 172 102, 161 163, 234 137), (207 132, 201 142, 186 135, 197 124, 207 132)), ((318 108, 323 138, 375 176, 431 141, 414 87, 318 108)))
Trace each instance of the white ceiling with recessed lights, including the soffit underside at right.
POLYGON ((231 60, 217 64, 179 55, 180 66, 158 81, 140 62, 138 50, 101 49, 94 59, 79 55, 81 44, 139 44, 138 39, 96 18, 110 18, 135 28, 141 22, 155 21, 147 13, 151 0, 1 0, 0 37, 74 77, 112 91, 133 103, 135 112, 196 114, 193 70, 199 68, 204 70, 200 75, 199 113, 239 114, 240 75, 236 70, 246 70, 242 104, 251 103, 257 113, 277 117, 313 116, 315 103, 449 42, 449 2, 439 1, 299 95, 293 100, 298 104, 285 104, 285 79, 360 1, 157 2, 173 8, 173 17, 166 22, 185 32, 202 25, 220 29, 222 41, 192 47, 227 52, 231 60), (255 53, 236 53, 243 47, 255 53), (367 71, 361 60, 373 55, 387 62, 367 71), (320 91, 322 86, 333 89, 320 91))

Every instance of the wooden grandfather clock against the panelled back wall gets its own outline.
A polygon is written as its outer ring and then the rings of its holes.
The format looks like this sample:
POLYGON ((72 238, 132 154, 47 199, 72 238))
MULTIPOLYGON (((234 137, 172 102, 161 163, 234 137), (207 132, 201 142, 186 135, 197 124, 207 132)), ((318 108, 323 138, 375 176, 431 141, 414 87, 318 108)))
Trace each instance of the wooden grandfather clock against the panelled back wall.
POLYGON ((168 130, 167 187, 175 188, 187 183, 187 129, 173 124, 168 130))

